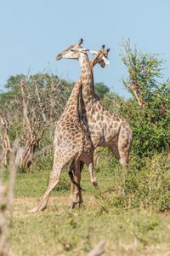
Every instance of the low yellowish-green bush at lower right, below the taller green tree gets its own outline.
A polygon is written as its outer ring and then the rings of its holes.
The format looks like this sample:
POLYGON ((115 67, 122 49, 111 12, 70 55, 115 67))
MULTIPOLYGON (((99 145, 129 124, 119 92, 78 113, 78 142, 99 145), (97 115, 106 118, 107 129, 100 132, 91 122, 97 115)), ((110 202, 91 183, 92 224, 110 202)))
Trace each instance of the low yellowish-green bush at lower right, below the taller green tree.
POLYGON ((132 161, 127 168, 114 172, 113 207, 151 208, 158 212, 170 210, 170 159, 155 154, 142 168, 132 161))

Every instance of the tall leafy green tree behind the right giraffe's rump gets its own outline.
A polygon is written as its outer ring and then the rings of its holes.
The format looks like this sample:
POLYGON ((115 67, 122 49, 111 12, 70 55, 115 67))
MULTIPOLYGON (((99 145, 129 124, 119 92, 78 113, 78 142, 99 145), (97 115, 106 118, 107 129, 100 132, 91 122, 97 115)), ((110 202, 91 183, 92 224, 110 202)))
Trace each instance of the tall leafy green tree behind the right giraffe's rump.
POLYGON ((132 98, 123 102, 120 113, 133 128, 133 155, 140 158, 166 152, 170 148, 170 84, 162 79, 164 60, 158 55, 122 45, 122 61, 128 77, 122 79, 132 98))

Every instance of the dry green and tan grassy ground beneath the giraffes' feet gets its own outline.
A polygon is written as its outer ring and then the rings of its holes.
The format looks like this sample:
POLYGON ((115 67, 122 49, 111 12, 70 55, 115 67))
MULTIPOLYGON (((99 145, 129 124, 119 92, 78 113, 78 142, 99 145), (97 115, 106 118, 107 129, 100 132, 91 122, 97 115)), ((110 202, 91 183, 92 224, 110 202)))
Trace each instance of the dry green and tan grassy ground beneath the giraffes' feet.
POLYGON ((169 212, 113 206, 114 174, 104 166, 96 172, 99 190, 90 183, 88 172, 82 172, 83 207, 72 212, 68 211, 70 179, 66 171, 51 193, 48 208, 36 213, 27 210, 47 189, 50 171, 18 173, 9 255, 88 255, 100 240, 105 240, 104 255, 170 255, 169 212))

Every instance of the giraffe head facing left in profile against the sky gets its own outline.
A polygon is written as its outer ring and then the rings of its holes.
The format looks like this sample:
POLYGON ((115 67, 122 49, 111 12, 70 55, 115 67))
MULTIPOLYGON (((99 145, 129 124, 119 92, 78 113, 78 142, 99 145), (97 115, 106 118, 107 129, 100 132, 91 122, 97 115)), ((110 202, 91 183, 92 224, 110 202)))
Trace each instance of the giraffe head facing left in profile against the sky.
POLYGON ((73 60, 78 60, 80 55, 86 54, 89 49, 84 49, 82 48, 83 40, 80 39, 77 44, 71 45, 68 49, 65 49, 62 51, 59 55, 57 55, 56 60, 59 61, 61 59, 73 59, 73 60))

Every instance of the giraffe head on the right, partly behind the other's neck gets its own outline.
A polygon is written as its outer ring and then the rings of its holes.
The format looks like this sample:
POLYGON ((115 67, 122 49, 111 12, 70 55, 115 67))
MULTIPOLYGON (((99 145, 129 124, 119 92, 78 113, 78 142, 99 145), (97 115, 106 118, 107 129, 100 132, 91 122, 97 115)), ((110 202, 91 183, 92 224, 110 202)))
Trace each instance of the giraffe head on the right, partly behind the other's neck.
POLYGON ((99 65, 101 67, 105 67, 105 64, 109 64, 109 61, 108 61, 109 51, 110 51, 110 48, 105 50, 105 44, 102 45, 102 47, 99 51, 90 50, 89 52, 92 55, 95 55, 93 60, 92 60, 92 63, 94 63, 94 65, 99 63, 99 65))

